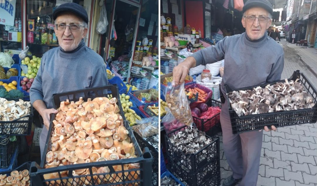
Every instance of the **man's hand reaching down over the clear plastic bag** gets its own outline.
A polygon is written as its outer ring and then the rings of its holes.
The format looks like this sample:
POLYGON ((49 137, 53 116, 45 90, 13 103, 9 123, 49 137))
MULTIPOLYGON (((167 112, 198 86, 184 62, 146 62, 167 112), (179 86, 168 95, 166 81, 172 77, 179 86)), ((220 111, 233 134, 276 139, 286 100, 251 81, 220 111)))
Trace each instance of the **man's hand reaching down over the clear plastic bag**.
POLYGON ((173 69, 173 80, 175 84, 181 84, 185 81, 189 73, 189 69, 196 65, 196 60, 193 57, 188 57, 184 62, 179 63, 173 69))

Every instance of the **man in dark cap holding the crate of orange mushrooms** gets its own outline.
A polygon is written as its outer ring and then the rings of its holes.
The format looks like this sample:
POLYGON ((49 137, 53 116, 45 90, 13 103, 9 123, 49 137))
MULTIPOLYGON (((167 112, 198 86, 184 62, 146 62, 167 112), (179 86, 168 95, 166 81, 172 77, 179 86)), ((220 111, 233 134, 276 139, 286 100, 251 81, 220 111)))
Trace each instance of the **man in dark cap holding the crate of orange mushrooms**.
POLYGON ((76 3, 64 3, 53 12, 59 47, 46 52, 41 67, 30 90, 33 107, 43 118, 40 136, 41 155, 43 154, 51 114, 52 96, 55 93, 107 85, 106 64, 103 58, 86 47, 88 15, 76 3))

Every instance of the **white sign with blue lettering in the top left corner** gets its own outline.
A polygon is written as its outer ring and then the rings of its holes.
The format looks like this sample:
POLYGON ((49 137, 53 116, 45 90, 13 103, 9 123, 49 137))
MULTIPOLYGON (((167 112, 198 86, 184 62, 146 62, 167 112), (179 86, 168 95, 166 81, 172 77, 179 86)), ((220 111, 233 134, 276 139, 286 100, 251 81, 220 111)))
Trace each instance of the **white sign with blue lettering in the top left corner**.
POLYGON ((0 24, 14 26, 16 0, 0 0, 0 24))

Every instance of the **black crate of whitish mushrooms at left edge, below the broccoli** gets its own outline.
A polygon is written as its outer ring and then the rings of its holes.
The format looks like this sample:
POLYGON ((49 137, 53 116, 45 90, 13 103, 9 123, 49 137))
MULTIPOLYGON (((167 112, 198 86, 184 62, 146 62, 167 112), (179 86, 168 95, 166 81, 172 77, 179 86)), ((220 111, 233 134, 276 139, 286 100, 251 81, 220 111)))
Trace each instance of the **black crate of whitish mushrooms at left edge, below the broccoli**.
MULTIPOLYGON (((29 118, 22 118, 31 114, 31 103, 29 101, 8 101, 5 98, 0 98, 0 121, 8 122, 20 119, 29 120, 29 118)), ((24 134, 27 130, 28 123, 19 124, 0 124, 1 134, 24 134), (1 126, 4 125, 4 126, 1 126), (3 131, 2 131, 2 128, 3 131)))

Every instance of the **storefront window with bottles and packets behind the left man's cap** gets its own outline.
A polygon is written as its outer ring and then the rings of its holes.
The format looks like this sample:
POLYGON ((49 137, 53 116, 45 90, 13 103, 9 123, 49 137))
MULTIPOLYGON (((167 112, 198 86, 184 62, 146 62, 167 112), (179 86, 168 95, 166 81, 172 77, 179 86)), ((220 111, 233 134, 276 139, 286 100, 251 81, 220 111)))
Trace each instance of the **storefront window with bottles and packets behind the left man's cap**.
MULTIPOLYGON (((73 0, 90 10, 91 0, 73 0), (87 6, 87 7, 86 7, 87 6)), ((28 0, 26 37, 32 55, 42 57, 48 50, 58 47, 54 33, 53 11, 63 0, 28 0)), ((87 11, 90 15, 90 11, 87 11)))

